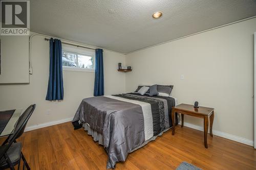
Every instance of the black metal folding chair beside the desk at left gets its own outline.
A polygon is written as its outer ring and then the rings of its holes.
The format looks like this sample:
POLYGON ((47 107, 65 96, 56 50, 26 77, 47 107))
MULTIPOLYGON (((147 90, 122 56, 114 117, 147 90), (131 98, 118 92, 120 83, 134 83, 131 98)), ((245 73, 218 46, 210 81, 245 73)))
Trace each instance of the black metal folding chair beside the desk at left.
POLYGON ((19 117, 17 125, 14 129, 14 133, 10 135, 0 147, 0 169, 14 169, 14 166, 17 164, 19 169, 20 159, 23 159, 24 162, 23 169, 25 169, 25 165, 27 169, 30 169, 22 153, 22 143, 17 142, 16 139, 23 134, 28 120, 35 109, 35 106, 35 104, 29 106, 19 117))

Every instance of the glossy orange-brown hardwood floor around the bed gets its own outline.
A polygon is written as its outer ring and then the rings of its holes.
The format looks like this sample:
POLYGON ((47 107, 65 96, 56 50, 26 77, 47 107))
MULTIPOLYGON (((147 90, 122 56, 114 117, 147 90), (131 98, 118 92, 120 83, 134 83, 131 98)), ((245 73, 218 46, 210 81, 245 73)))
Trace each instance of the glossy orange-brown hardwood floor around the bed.
MULTIPOLYGON (((105 169, 105 150, 83 129, 64 123, 25 132, 19 141, 31 169, 105 169)), ((256 169, 256 150, 248 145, 177 126, 130 153, 116 169, 176 169, 182 162, 206 169, 256 169)))

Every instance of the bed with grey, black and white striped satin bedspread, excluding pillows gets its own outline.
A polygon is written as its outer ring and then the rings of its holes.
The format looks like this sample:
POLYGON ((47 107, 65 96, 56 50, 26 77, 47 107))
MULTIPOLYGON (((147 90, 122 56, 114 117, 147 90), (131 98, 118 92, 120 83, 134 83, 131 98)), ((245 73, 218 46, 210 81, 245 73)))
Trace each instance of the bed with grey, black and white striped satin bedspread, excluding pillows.
MULTIPOLYGON (((108 154, 106 168, 155 140, 172 128, 171 109, 177 104, 170 96, 138 93, 96 96, 83 99, 72 124, 83 127, 108 154)), ((177 121, 176 115, 176 123, 177 121)))

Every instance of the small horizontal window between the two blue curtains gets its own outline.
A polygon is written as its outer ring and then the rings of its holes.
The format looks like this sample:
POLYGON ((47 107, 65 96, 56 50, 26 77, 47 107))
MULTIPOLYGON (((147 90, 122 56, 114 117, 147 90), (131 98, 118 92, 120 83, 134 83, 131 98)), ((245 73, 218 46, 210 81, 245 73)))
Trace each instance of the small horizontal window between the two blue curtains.
POLYGON ((95 56, 92 52, 81 51, 81 49, 63 48, 62 67, 69 71, 94 71, 95 56), (77 51, 77 52, 74 52, 77 51))

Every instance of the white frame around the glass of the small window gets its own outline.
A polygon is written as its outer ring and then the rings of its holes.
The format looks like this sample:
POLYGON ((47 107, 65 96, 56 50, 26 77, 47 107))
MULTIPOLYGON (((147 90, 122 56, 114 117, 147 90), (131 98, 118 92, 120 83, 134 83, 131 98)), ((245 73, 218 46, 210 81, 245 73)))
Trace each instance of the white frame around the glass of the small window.
MULTIPOLYGON (((83 56, 88 56, 88 57, 92 57, 93 58, 93 66, 94 68, 91 69, 91 68, 79 68, 79 67, 70 67, 70 66, 65 66, 65 65, 62 65, 62 71, 81 71, 81 72, 95 72, 95 54, 90 54, 91 52, 88 52, 86 53, 86 51, 83 50, 84 53, 81 53, 81 52, 75 52, 76 49, 70 49, 70 48, 67 48, 67 49, 62 49, 62 52, 61 52, 61 55, 63 52, 66 52, 66 53, 72 53, 72 54, 77 54, 77 55, 83 55, 83 56)), ((77 50, 77 51, 81 51, 80 49, 77 50)), ((61 56, 62 57, 62 56, 61 56)), ((62 64, 62 63, 61 63, 62 64)))

